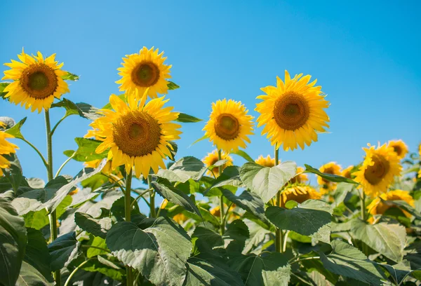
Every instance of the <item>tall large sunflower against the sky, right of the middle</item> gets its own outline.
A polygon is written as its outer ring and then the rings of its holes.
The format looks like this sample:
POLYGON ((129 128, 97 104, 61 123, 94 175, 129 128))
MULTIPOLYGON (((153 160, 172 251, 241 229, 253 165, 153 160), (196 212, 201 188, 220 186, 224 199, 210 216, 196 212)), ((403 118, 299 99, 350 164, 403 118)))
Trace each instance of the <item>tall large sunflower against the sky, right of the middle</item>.
POLYGON ((257 98, 263 100, 257 104, 260 113, 258 127, 265 125, 262 135, 267 134, 272 145, 288 151, 304 149, 317 141, 316 132, 324 132, 328 128, 329 117, 323 109, 329 106, 324 99, 321 86, 314 86, 316 80, 309 83, 310 75, 295 75, 290 79, 285 71, 285 83, 276 76, 276 87, 261 88, 266 95, 257 98))

